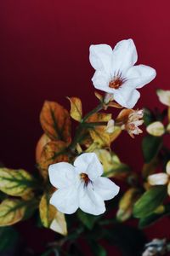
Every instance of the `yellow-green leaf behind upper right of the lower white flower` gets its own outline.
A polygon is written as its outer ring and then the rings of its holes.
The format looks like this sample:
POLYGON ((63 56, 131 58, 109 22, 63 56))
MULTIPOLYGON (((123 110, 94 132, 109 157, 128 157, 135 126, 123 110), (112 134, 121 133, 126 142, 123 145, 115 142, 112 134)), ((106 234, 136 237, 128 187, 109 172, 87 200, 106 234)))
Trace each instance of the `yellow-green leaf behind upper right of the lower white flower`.
POLYGON ((106 149, 96 149, 94 153, 98 155, 100 162, 104 166, 105 177, 122 179, 129 174, 130 167, 123 164, 113 152, 109 152, 106 149))

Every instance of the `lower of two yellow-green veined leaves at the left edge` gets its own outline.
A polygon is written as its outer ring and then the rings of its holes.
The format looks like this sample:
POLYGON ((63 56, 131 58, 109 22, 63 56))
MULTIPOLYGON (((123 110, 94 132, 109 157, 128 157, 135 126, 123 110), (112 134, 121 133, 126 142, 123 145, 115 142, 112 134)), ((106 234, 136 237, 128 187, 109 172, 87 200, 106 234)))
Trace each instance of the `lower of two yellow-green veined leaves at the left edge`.
POLYGON ((8 226, 29 218, 36 208, 37 201, 6 199, 0 204, 0 226, 8 226))

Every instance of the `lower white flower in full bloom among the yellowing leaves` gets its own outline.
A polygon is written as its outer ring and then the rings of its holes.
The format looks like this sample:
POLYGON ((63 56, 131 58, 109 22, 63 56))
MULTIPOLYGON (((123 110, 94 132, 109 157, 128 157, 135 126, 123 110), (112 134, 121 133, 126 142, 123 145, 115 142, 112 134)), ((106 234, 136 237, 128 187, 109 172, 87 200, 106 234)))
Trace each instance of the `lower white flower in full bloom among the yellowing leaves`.
POLYGON ((80 207, 83 212, 99 215, 105 212, 104 201, 119 192, 109 178, 100 177, 103 166, 94 153, 81 154, 73 166, 66 162, 51 165, 48 172, 50 183, 58 189, 50 204, 59 212, 71 214, 80 207))

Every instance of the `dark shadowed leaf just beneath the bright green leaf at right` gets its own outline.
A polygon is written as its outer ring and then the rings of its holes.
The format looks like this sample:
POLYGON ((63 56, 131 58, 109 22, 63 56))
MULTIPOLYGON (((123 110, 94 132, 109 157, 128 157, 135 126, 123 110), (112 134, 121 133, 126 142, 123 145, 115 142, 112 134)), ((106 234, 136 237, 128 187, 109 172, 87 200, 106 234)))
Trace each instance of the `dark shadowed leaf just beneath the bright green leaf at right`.
POLYGON ((166 216, 169 216, 170 215, 170 205, 167 205, 164 208, 165 208, 164 212, 161 212, 161 213, 154 212, 145 218, 140 218, 139 219, 139 228, 144 229, 145 227, 147 227, 151 224, 154 224, 157 220, 164 218, 166 216))

